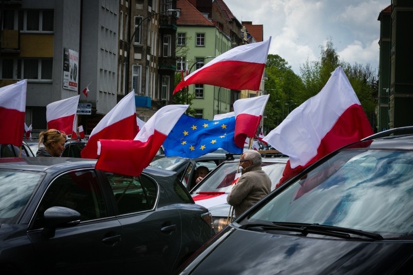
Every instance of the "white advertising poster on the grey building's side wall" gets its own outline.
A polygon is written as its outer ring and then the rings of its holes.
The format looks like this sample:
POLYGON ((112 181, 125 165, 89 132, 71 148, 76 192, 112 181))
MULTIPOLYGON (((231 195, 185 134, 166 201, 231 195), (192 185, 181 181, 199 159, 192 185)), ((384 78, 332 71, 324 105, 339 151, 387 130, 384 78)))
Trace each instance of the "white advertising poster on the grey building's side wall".
POLYGON ((63 48, 63 88, 78 92, 79 52, 63 48))

